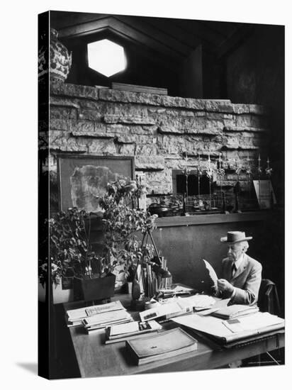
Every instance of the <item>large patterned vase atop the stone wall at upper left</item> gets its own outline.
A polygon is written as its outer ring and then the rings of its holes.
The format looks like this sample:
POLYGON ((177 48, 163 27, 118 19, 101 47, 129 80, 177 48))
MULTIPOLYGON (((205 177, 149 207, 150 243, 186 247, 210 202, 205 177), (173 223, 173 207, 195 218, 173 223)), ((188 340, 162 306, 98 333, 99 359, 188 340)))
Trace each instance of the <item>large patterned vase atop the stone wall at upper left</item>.
POLYGON ((69 74, 72 64, 72 52, 57 39, 58 32, 50 29, 50 48, 47 48, 45 34, 41 35, 43 45, 38 51, 38 77, 41 79, 50 73, 50 82, 64 82, 69 74))

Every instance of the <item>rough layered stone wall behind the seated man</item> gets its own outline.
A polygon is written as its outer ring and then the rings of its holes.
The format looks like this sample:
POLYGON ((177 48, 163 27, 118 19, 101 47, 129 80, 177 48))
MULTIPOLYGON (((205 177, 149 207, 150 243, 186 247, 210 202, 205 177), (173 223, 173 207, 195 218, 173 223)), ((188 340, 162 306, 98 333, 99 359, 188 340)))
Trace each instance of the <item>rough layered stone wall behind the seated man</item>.
MULTIPOLYGON (((41 117, 40 117, 41 119, 41 117)), ((98 89, 75 84, 50 86, 50 166, 55 181, 58 152, 135 156, 136 172, 145 172, 149 191, 172 194, 172 169, 215 167, 222 153, 223 186, 237 181, 235 164, 257 163, 266 156, 269 116, 263 106, 230 100, 186 99, 98 89)), ((46 148, 40 120, 40 148, 46 148)), ((245 186, 247 176, 240 176, 245 186)))

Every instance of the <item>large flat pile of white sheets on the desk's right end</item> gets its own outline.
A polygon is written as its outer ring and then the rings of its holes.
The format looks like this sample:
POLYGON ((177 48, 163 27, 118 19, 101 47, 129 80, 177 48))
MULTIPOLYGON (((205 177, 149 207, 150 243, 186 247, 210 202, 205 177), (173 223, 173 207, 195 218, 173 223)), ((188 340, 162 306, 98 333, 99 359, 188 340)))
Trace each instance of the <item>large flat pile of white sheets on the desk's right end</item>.
POLYGON ((176 317, 172 321, 205 333, 220 344, 239 342, 251 336, 264 335, 264 333, 284 328, 283 318, 260 312, 227 321, 193 313, 190 316, 176 317))

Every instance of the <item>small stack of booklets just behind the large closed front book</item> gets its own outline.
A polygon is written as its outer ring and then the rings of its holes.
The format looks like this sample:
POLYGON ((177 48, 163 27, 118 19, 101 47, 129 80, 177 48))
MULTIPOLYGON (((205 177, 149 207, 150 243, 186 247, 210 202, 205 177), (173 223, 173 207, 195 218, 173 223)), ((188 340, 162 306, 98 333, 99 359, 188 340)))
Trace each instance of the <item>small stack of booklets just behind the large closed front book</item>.
POLYGON ((161 329, 162 325, 159 325, 156 321, 149 321, 147 323, 133 321, 120 325, 112 325, 106 328, 106 344, 148 337, 149 333, 157 333, 161 329))

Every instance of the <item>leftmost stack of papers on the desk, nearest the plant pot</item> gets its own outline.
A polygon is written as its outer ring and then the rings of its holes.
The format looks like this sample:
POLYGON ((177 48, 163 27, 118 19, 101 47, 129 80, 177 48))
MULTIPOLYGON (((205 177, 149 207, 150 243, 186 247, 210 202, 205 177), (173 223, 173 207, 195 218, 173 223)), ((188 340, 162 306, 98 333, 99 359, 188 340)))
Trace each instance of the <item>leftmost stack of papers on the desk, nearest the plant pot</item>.
POLYGON ((101 305, 87 306, 83 308, 75 308, 67 311, 67 324, 68 326, 82 325, 82 320, 89 316, 93 316, 98 313, 106 313, 108 311, 124 310, 120 301, 114 301, 110 303, 103 303, 101 305))

